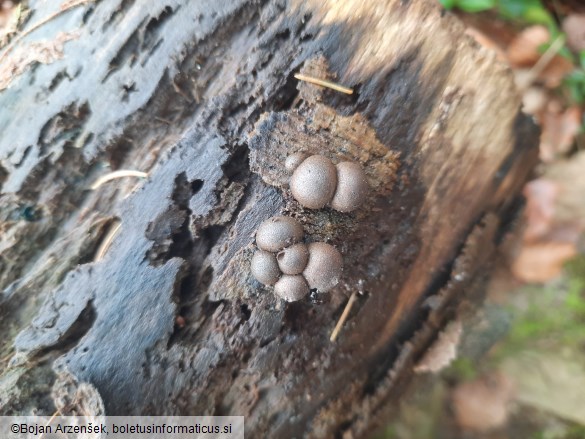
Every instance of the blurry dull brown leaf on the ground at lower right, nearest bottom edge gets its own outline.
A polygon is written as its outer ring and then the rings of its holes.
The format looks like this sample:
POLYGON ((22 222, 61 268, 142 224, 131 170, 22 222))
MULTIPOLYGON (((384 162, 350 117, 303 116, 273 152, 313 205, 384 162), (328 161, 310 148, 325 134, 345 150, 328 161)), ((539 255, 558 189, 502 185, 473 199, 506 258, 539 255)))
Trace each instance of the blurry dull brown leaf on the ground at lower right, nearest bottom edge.
POLYGON ((501 373, 460 384, 452 394, 453 411, 460 427, 485 432, 505 425, 514 387, 501 373))

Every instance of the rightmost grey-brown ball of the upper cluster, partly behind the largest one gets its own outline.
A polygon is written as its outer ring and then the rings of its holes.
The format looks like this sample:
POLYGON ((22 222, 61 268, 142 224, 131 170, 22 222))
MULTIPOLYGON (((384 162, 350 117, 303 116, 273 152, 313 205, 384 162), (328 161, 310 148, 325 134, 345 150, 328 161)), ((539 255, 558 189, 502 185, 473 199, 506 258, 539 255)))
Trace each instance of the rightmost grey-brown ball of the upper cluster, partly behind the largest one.
POLYGON ((353 162, 341 162, 336 168, 337 188, 330 206, 340 212, 351 212, 360 207, 368 194, 366 173, 353 162))

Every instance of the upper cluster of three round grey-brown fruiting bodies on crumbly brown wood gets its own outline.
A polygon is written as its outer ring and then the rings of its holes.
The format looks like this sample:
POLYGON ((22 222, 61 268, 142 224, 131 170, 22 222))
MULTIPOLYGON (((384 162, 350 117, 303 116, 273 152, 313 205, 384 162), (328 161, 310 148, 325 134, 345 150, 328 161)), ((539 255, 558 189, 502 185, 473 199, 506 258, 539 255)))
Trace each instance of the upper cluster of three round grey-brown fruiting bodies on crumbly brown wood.
POLYGON ((357 209, 368 194, 368 181, 362 167, 354 162, 334 165, 322 155, 307 157, 296 153, 287 157, 285 167, 292 172, 290 191, 304 207, 325 206, 339 212, 357 209))

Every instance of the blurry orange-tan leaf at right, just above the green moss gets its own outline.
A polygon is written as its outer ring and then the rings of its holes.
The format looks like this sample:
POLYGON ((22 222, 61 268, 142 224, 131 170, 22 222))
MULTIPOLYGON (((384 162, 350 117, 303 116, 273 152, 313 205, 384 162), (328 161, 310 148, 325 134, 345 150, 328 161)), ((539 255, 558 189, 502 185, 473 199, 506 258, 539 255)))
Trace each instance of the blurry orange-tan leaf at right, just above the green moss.
POLYGON ((524 282, 547 282, 558 277, 564 263, 576 255, 573 242, 526 244, 512 263, 512 273, 524 282))

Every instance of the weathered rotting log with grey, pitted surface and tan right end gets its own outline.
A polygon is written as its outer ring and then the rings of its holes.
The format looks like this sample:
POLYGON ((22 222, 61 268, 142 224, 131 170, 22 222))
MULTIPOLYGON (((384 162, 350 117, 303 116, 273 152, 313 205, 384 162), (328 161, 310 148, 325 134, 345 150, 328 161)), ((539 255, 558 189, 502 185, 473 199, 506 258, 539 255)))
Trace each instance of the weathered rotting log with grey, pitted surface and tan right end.
POLYGON ((538 133, 511 73, 431 0, 104 0, 4 62, 78 28, 0 92, 0 410, 65 410, 73 380, 109 414, 364 436, 517 211, 538 133), (354 94, 297 83, 301 69, 354 94), (365 207, 300 208, 283 173, 298 150, 362 163, 365 207), (106 166, 149 178, 88 190, 106 166), (331 294, 279 303, 250 277, 254 231, 278 213, 341 250, 331 294))

